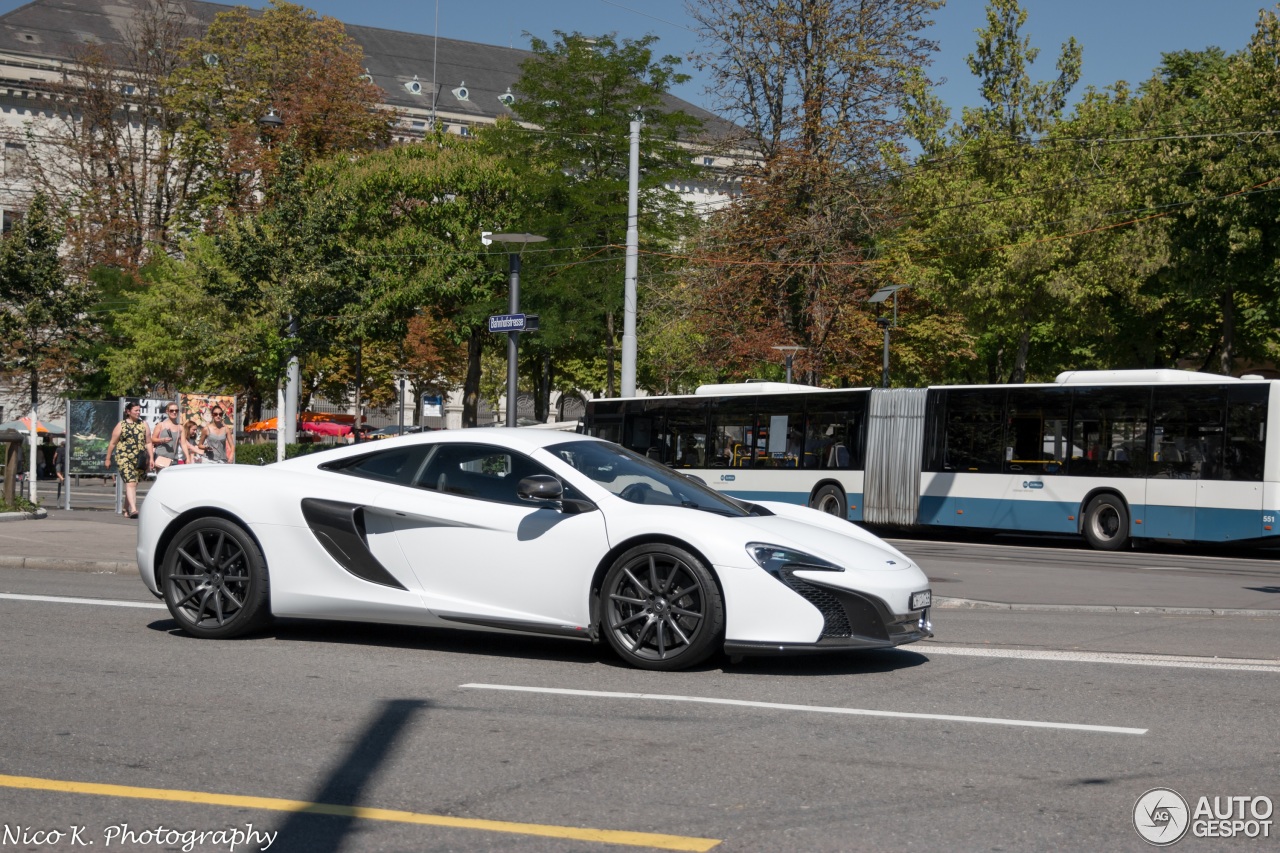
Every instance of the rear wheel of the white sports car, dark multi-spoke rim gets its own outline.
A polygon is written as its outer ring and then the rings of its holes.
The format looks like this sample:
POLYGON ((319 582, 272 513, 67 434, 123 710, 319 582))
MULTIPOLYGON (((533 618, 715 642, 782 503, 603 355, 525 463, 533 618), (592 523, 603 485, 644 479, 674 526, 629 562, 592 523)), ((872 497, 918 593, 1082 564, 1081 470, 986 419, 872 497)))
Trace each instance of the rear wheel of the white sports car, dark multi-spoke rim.
POLYGON ((169 612, 193 637, 238 637, 271 619, 262 552, 227 519, 183 526, 165 551, 160 585, 169 612))

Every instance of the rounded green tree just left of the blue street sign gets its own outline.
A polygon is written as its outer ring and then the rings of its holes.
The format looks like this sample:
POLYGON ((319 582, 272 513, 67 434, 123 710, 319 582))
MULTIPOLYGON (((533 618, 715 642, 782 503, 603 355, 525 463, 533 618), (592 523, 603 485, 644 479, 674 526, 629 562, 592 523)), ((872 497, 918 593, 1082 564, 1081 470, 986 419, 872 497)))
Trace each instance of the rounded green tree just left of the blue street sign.
MULTIPOLYGON (((307 174, 306 219, 314 288, 301 310, 329 342, 394 345, 396 369, 424 369, 415 334, 466 346, 463 423, 475 425, 486 318, 506 296, 504 264, 484 231, 518 228, 526 187, 502 160, 448 134, 364 158, 334 158, 307 174), (415 333, 415 318, 444 324, 415 333), (417 353, 415 356, 415 352, 417 353)), ((500 256, 504 260, 504 256, 500 256)), ((433 356, 433 359, 436 359, 433 356)), ((444 365, 453 378, 457 362, 444 365)))

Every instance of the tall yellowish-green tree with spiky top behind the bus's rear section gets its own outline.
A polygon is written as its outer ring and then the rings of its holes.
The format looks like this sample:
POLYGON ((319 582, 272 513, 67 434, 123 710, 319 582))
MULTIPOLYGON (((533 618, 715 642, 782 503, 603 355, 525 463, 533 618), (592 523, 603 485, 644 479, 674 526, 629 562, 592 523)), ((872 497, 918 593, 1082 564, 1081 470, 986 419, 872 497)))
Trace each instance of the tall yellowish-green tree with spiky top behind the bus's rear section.
MULTIPOLYGON (((937 114, 938 101, 919 77, 909 110, 925 156, 905 169, 902 191, 924 229, 922 242, 938 259, 924 263, 916 278, 927 296, 966 318, 986 369, 973 378, 987 382, 1024 382, 1033 343, 1060 348, 1105 319, 1101 309, 1116 272, 1107 252, 1115 246, 1087 232, 1128 205, 1128 184, 1115 175, 1132 160, 1119 149, 1079 143, 1133 127, 1128 92, 1091 93, 1065 123, 1080 47, 1069 40, 1057 78, 1032 82, 1038 51, 1021 35, 1025 22, 1018 0, 991 0, 969 56, 984 104, 966 108, 947 136, 941 136, 946 118, 937 114), (1065 238, 1073 233, 1082 236, 1065 238)), ((1137 287, 1133 275, 1123 282, 1137 287)), ((1046 368, 1056 361, 1039 355, 1046 368)))

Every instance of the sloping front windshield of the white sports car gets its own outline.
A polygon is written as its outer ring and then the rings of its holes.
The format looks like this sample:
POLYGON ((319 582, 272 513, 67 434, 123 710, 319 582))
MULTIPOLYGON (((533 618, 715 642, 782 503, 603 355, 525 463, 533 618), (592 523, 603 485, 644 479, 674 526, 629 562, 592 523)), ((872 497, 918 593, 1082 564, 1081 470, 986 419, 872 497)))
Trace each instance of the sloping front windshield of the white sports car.
POLYGON ((623 501, 682 506, 719 515, 750 515, 731 498, 664 465, 607 442, 566 442, 547 448, 623 501))

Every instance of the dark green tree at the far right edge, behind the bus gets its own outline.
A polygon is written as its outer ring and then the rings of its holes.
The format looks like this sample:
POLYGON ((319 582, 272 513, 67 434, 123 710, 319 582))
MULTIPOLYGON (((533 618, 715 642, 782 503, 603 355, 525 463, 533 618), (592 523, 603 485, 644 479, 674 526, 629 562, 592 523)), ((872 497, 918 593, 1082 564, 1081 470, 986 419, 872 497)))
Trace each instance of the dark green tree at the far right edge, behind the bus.
POLYGON ((1166 54, 1146 90, 1166 128, 1149 151, 1169 210, 1169 265, 1149 292, 1167 309, 1166 360, 1239 373, 1280 356, 1280 17, 1263 9, 1245 50, 1166 54), (1245 364, 1239 364, 1239 361, 1245 364))

